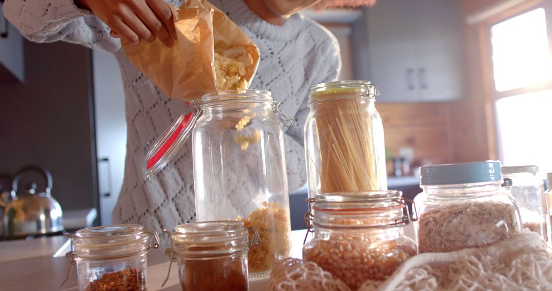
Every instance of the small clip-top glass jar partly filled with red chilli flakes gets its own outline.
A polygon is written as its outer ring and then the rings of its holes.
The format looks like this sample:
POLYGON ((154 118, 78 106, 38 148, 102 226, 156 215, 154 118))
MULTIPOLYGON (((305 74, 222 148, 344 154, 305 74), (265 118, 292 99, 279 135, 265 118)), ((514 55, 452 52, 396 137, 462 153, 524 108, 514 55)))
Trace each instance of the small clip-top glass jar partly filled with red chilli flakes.
POLYGON ((110 225, 77 230, 67 253, 77 265, 81 291, 146 290, 146 254, 159 247, 155 231, 142 225, 110 225))

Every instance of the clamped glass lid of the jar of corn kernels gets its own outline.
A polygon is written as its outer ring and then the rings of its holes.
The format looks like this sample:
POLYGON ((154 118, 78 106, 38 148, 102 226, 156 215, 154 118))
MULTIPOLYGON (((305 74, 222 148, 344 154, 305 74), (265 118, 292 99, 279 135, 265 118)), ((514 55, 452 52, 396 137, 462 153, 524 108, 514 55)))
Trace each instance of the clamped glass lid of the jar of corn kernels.
MULTIPOLYGON (((336 228, 400 227, 416 218, 411 217, 401 191, 369 191, 331 193, 311 199, 312 224, 336 228)), ((310 205, 309 205, 310 206, 310 205)), ((311 228, 311 219, 306 219, 311 228)))

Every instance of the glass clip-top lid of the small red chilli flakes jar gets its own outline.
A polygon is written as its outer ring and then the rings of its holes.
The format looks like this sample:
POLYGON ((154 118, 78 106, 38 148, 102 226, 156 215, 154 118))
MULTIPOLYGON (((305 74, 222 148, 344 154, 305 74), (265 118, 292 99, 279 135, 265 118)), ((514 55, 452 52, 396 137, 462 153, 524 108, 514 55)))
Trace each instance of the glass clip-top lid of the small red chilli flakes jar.
POLYGON ((157 249, 159 238, 139 224, 110 225, 77 230, 71 247, 75 260, 105 260, 157 249))

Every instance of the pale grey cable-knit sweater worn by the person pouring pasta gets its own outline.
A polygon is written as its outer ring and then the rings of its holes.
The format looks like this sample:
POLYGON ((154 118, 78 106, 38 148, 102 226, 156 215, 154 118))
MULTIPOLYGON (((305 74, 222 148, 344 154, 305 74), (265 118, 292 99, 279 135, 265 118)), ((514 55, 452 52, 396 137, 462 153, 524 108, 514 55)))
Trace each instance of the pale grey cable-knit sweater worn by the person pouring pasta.
MULTIPOLYGON (((259 0, 260 1, 260 0, 259 0)), ((182 0, 168 0, 180 6, 182 0)), ((265 89, 280 102, 280 111, 293 116, 285 147, 290 192, 305 185, 303 126, 312 85, 338 76, 341 61, 335 37, 321 25, 295 14, 282 26, 267 23, 242 0, 210 1, 251 37, 261 51, 251 89, 265 89)), ((158 90, 124 56, 120 41, 109 29, 73 0, 6 0, 6 18, 23 36, 35 42, 67 41, 114 53, 125 89, 127 143, 125 176, 113 212, 114 223, 139 223, 148 229, 172 229, 195 219, 191 141, 166 168, 145 179, 148 147, 167 126, 190 109, 158 90)), ((63 60, 60 60, 62 62, 63 60)), ((167 241, 167 236, 162 236, 167 241)))

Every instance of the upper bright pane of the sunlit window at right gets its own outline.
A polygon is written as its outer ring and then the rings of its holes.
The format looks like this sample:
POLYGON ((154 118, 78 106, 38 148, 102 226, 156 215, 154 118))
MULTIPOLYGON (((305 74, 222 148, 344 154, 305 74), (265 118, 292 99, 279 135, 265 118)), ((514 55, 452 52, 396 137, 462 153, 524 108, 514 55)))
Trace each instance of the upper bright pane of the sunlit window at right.
POLYGON ((491 28, 492 63, 497 91, 546 82, 551 77, 543 8, 491 28))

